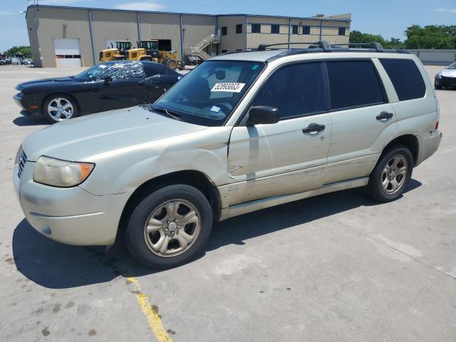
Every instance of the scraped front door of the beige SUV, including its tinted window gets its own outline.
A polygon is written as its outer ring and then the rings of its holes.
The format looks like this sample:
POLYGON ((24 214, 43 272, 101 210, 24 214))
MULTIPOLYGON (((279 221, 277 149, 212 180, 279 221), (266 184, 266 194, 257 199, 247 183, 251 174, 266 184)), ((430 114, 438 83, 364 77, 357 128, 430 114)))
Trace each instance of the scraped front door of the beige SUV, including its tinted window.
POLYGON ((280 121, 233 128, 229 205, 321 187, 332 130, 323 63, 279 68, 253 105, 278 108, 280 121))

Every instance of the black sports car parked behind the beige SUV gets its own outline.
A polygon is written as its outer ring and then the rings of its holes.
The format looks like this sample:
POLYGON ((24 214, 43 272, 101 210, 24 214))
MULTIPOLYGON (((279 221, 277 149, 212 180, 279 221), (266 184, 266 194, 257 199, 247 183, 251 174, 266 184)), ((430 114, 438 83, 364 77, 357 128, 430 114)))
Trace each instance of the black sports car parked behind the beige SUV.
POLYGON ((21 83, 14 100, 24 115, 44 115, 57 123, 77 115, 153 103, 180 78, 180 73, 160 63, 112 61, 76 76, 21 83))

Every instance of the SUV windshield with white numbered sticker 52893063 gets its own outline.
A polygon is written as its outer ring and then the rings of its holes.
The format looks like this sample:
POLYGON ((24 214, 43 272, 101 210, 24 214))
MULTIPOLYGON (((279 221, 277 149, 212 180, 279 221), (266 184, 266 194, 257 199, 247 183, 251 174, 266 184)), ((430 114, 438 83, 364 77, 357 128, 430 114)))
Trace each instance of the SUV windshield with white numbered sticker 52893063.
POLYGON ((260 62, 204 62, 172 86, 153 109, 187 123, 221 126, 263 68, 260 62))

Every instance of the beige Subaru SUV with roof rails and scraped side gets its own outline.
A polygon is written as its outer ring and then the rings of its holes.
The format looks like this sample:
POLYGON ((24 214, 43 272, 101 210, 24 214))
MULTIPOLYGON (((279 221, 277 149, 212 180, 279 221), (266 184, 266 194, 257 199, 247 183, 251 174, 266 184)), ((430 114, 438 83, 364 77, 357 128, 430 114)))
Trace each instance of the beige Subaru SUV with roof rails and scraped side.
POLYGON ((401 197, 442 136, 418 58, 378 44, 258 50, 211 58, 153 105, 29 135, 14 167, 28 222, 67 244, 125 237, 164 268, 202 249, 214 221, 353 187, 401 197))

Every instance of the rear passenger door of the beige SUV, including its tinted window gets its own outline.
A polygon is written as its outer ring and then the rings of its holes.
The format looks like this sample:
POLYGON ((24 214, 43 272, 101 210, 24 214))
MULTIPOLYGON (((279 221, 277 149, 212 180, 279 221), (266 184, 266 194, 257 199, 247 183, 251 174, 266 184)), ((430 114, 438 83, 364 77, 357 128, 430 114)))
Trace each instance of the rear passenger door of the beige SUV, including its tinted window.
POLYGON ((371 59, 328 61, 333 131, 325 183, 365 177, 397 131, 371 59))

